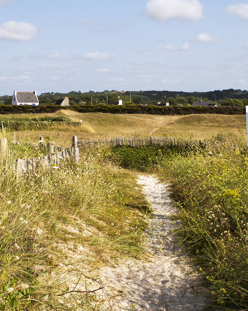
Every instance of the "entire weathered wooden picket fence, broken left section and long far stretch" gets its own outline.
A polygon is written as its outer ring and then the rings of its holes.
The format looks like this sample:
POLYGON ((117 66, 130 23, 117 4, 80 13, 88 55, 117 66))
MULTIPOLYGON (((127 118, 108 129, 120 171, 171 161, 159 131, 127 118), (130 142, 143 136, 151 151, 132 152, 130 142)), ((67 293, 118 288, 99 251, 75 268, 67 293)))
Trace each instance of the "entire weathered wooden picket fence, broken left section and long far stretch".
MULTIPOLYGON (((16 175, 20 176, 27 170, 34 171, 37 166, 44 169, 52 167, 54 169, 63 165, 64 160, 69 159, 79 162, 79 147, 115 147, 115 146, 147 146, 147 145, 161 145, 161 146, 190 146, 190 145, 205 145, 211 147, 216 151, 221 152, 223 149, 228 150, 246 150, 246 145, 228 143, 228 142, 211 142, 207 140, 195 140, 192 138, 182 137, 168 137, 168 136, 137 136, 137 137, 115 137, 111 139, 97 139, 97 140, 79 140, 77 136, 72 137, 72 147, 67 147, 62 150, 60 146, 56 146, 53 142, 45 144, 43 137, 40 137, 38 144, 27 144, 15 140, 13 135, 13 142, 15 144, 33 145, 42 148, 47 152, 46 156, 39 156, 37 158, 17 159, 16 160, 16 175)), ((0 138, 0 153, 6 155, 8 153, 7 138, 0 138)))

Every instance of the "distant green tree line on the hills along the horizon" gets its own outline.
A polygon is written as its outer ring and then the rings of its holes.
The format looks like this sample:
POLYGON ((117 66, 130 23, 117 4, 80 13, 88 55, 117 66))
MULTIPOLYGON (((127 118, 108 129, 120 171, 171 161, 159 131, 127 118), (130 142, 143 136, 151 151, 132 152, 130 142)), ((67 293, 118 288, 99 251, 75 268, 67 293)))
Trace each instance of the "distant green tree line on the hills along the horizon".
MULTIPOLYGON (((169 102, 170 106, 189 106, 194 101, 212 101, 218 106, 245 106, 248 105, 248 91, 244 90, 215 90, 209 92, 175 92, 175 91, 108 91, 94 92, 89 91, 83 93, 82 91, 71 91, 69 93, 54 93, 47 92, 38 96, 39 103, 43 105, 55 104, 55 102, 67 96, 69 104, 73 105, 96 105, 96 104, 109 104, 116 102, 119 99, 123 103, 130 102, 136 105, 157 106, 158 102, 166 104, 169 102), (116 92, 116 93, 111 93, 116 92)), ((0 102, 3 104, 11 105, 12 97, 8 95, 0 96, 0 102)))

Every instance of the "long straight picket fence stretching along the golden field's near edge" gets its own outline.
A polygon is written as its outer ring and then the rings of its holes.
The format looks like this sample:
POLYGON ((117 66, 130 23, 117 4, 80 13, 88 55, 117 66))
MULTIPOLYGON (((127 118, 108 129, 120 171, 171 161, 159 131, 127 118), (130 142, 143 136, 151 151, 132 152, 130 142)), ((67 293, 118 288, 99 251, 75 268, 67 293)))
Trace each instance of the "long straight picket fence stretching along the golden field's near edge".
POLYGON ((202 145, 210 146, 215 150, 246 150, 246 145, 228 143, 228 142, 213 142, 207 140, 196 140, 192 138, 170 137, 170 136, 135 136, 135 137, 115 137, 111 139, 96 139, 96 140, 79 140, 78 146, 91 146, 91 147, 115 147, 115 146, 147 146, 147 145, 161 145, 161 146, 189 146, 189 145, 202 145))

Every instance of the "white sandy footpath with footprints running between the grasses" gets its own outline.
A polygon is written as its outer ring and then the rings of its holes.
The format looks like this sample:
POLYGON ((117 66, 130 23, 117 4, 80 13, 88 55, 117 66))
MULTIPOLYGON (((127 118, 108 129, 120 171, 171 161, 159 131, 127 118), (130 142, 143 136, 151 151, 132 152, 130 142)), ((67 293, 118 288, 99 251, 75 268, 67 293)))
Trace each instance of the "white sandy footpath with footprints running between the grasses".
POLYGON ((171 234, 176 226, 169 215, 175 212, 170 199, 170 185, 159 183, 153 176, 138 176, 153 218, 145 239, 150 257, 126 260, 101 269, 100 279, 108 292, 106 309, 179 311, 203 310, 210 301, 208 291, 185 260, 171 234))

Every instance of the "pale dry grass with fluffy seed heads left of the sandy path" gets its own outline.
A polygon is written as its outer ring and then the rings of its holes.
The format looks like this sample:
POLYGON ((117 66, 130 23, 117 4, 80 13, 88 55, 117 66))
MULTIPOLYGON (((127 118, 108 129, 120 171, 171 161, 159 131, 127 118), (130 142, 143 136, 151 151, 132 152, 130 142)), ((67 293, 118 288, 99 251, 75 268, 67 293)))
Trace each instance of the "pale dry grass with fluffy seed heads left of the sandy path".
POLYGON ((96 268, 142 257, 148 204, 133 175, 100 150, 17 178, 20 148, 39 151, 17 145, 0 155, 0 310, 97 310, 96 268))

